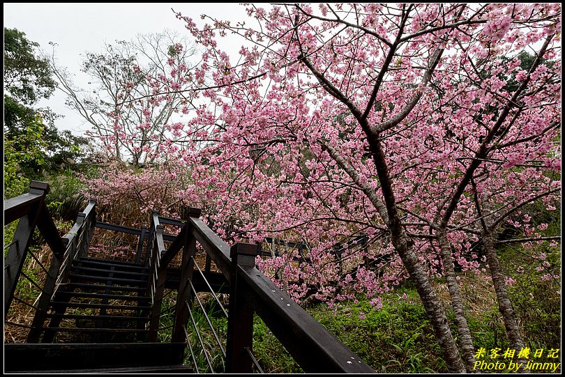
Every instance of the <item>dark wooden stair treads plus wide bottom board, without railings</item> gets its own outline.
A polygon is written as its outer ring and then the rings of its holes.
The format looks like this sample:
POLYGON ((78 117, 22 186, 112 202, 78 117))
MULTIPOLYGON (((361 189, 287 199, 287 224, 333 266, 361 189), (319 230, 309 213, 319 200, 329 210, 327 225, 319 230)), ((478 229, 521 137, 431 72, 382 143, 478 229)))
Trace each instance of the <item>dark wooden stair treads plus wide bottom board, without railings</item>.
POLYGON ((39 344, 5 344, 4 370, 29 373, 191 373, 185 344, 149 343, 148 268, 81 258, 54 294, 39 344))

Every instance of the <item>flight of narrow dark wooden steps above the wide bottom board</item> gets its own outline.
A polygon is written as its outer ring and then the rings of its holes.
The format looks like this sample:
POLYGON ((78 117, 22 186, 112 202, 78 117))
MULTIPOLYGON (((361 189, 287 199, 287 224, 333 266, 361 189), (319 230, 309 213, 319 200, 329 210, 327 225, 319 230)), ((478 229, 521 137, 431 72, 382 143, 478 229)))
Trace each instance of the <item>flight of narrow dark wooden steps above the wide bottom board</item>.
POLYGON ((147 341, 148 281, 148 268, 133 263, 77 259, 50 303, 42 342, 147 341))

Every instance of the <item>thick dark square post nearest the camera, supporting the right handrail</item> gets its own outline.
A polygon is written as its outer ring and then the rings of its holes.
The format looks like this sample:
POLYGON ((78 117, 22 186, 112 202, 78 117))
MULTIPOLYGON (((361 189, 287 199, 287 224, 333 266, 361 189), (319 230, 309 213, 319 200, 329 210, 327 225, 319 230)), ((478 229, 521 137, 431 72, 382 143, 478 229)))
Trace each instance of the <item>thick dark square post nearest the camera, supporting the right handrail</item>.
POLYGON ((244 298, 245 283, 239 268, 255 268, 257 245, 236 243, 229 250, 232 259, 232 276, 229 284, 227 317, 226 371, 251 373, 253 360, 253 307, 244 298))

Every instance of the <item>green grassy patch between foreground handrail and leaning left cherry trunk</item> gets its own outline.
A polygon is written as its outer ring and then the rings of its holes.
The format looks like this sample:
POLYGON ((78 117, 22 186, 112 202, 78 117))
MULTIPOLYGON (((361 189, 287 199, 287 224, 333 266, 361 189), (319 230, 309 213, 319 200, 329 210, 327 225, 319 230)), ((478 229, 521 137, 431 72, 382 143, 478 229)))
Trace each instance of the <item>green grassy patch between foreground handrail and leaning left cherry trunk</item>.
POLYGON ((311 313, 376 371, 444 372, 432 326, 414 295, 409 289, 398 290, 384 298, 379 310, 372 309, 368 300, 359 300, 343 303, 335 313, 325 305, 314 307, 311 313))

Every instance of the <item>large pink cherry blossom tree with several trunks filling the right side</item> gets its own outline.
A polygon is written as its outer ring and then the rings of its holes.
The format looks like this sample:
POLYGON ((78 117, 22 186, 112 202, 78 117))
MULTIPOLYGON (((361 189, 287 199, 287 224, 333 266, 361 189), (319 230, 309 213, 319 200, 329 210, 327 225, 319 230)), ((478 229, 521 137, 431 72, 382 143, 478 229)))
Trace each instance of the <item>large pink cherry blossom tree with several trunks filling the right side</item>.
POLYGON ((496 235, 522 203, 558 199, 560 5, 247 9, 256 25, 203 16, 211 24, 200 29, 178 14, 205 48, 202 64, 152 98, 193 99, 182 144, 168 139, 161 152, 190 169, 188 191, 214 202, 216 229, 306 241, 308 263, 294 263, 298 251, 259 261, 296 300, 314 286, 317 298, 363 291, 379 307, 379 294, 409 277, 452 372, 474 362, 454 263, 477 270, 480 241, 520 348, 496 235), (227 33, 244 42, 235 60, 216 40, 227 33), (336 240, 359 233, 373 247, 336 261, 336 240), (436 274, 448 282, 462 355, 436 274))

